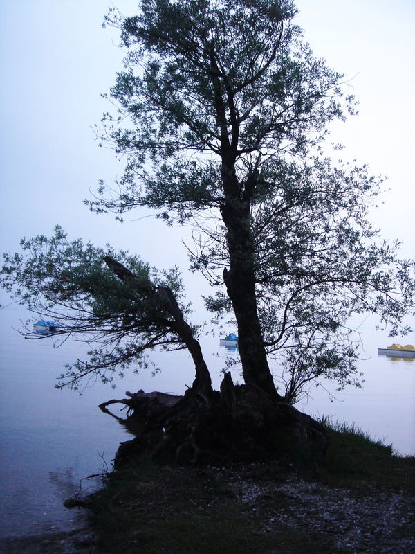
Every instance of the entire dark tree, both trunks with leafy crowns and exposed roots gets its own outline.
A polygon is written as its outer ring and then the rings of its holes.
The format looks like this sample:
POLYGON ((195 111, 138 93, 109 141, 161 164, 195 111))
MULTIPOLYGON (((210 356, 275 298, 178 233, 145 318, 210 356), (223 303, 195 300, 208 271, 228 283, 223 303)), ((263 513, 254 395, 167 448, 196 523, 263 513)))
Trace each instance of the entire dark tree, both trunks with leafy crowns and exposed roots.
POLYGON ((147 206, 194 225, 192 269, 216 289, 208 309, 234 318, 244 386, 227 374, 212 391, 176 272, 152 275, 138 258, 68 243, 60 229, 25 241, 26 258, 6 259, 10 291, 23 287, 36 310, 57 310, 60 332, 99 344, 68 368, 72 384, 145 363, 148 348, 189 348, 196 379, 184 399, 122 400, 145 413, 151 433, 140 440, 153 444, 158 429, 162 450, 269 453, 282 427, 322 438, 289 404, 315 379, 358 382, 351 314, 407 331, 413 262, 367 220, 382 179, 323 153, 329 123, 353 113, 353 98, 302 41, 295 12, 291 0, 142 0, 138 15, 106 18, 127 53, 111 89, 118 112, 105 114, 100 138, 127 163, 118 189, 102 181, 87 203, 118 217, 147 206))

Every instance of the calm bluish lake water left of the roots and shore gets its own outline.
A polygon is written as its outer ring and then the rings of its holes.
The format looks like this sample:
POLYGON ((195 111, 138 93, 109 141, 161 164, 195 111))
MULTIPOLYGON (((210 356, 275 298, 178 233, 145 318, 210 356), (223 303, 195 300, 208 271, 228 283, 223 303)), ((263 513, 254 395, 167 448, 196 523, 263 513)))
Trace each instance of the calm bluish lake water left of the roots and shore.
MULTIPOLYGON (((54 388, 59 367, 73 359, 67 344, 27 341, 0 312, 1 400, 0 535, 30 535, 78 525, 77 510, 62 506, 80 479, 111 463, 124 431, 96 408, 104 391, 80 397, 54 388)), ((107 391, 107 395, 111 393, 107 391)), ((91 480, 82 489, 96 487, 91 480)))

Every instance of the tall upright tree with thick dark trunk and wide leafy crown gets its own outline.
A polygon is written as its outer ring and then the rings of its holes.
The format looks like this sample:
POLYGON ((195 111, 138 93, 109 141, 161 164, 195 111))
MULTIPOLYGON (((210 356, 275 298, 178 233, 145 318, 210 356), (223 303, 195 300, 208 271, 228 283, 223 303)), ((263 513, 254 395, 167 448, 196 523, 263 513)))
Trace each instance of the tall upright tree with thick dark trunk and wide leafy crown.
POLYGON ((397 332, 414 291, 411 262, 367 221, 382 179, 322 154, 353 98, 302 42, 295 13, 291 0, 111 10, 127 56, 102 139, 127 167, 119 195, 102 182, 90 202, 193 221, 192 267, 219 287, 210 310, 234 314, 246 384, 276 396, 274 357, 291 402, 318 377, 356 382, 349 316, 376 312, 397 332))

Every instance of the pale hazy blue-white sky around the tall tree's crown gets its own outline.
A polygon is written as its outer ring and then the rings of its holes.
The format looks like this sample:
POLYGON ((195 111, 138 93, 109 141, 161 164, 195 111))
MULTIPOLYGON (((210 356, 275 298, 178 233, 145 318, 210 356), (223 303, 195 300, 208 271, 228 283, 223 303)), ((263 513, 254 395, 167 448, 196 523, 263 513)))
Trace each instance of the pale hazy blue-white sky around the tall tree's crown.
MULTIPOLYGON (((49 235, 59 223, 70 238, 109 242, 160 267, 187 267, 181 231, 139 219, 145 211, 119 224, 82 205, 98 179, 111 183, 122 172, 92 130, 109 109, 100 93, 122 69, 116 32, 101 27, 109 5, 0 0, 0 252, 17 250, 23 235, 49 235)), ((113 5, 124 15, 136 8, 131 0, 113 5)), ((360 116, 336 125, 335 140, 347 144, 345 155, 389 177, 391 193, 374 222, 386 238, 405 242, 406 256, 415 256, 415 4, 299 0, 297 8, 315 53, 345 73, 360 100, 360 116)), ((187 279, 195 300, 201 282, 187 279)))

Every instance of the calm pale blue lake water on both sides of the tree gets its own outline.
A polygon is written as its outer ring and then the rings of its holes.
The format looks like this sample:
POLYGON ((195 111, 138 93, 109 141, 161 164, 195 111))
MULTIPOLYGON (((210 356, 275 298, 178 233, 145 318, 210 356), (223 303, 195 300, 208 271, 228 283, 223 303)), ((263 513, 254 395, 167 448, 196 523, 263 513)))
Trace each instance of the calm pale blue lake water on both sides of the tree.
MULTIPOLYGON (((100 383, 86 388, 82 396, 57 391, 56 377, 65 363, 82 357, 82 345, 66 341, 54 348, 52 337, 25 340, 12 329, 25 318, 24 310, 0 310, 2 537, 80 525, 76 513, 66 510, 62 501, 78 492, 80 483, 83 491, 98 486, 91 479, 81 480, 99 472, 104 463, 111 466, 118 443, 129 438, 116 420, 97 408, 100 402, 138 388, 183 393, 193 380, 186 353, 174 352, 160 358, 163 373, 133 375, 116 391, 100 383)), ((393 443, 401 454, 415 454, 415 361, 378 357, 377 346, 387 346, 390 340, 367 337, 365 348, 371 357, 361 362, 365 387, 338 393, 335 402, 317 389, 297 407, 312 415, 356 422, 371 436, 393 443)), ((218 342, 217 337, 207 339, 204 350, 217 352, 218 342)), ((207 357, 216 387, 224 355, 207 357)))

